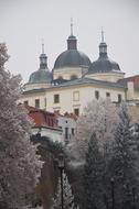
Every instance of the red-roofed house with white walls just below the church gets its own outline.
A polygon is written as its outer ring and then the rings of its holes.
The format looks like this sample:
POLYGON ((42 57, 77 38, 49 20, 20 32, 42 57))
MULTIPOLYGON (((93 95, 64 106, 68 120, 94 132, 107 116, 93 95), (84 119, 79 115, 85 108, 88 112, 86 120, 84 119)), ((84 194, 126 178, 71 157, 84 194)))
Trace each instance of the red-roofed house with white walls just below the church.
POLYGON ((24 106, 28 114, 33 122, 32 135, 41 134, 53 142, 68 143, 76 131, 75 114, 65 113, 64 116, 47 112, 31 106, 24 106))

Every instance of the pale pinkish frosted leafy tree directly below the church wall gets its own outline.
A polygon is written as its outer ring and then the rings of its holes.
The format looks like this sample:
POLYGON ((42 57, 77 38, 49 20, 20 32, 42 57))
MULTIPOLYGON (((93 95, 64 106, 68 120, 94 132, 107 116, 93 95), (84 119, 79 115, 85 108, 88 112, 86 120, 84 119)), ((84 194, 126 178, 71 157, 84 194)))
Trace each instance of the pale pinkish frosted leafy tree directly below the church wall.
POLYGON ((109 142, 114 141, 117 121, 117 108, 109 99, 93 100, 85 108, 84 114, 77 120, 76 134, 67 147, 67 153, 83 162, 88 141, 94 132, 97 135, 101 151, 107 152, 109 142))

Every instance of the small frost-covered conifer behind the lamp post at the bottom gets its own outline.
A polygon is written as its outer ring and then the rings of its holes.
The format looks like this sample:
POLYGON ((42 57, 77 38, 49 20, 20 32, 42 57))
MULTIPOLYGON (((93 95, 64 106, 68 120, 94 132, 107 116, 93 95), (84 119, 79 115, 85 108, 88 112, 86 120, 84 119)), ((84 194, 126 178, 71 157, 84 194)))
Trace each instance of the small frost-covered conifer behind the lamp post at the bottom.
MULTIPOLYGON (((61 179, 58 179, 57 193, 53 198, 52 209, 62 208, 62 199, 61 199, 61 179)), ((66 174, 63 172, 63 209, 79 209, 79 207, 74 204, 74 196, 72 194, 72 188, 68 183, 68 178, 66 174)))

